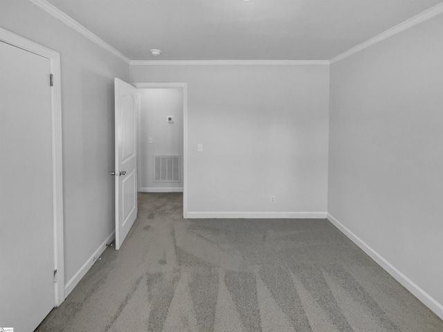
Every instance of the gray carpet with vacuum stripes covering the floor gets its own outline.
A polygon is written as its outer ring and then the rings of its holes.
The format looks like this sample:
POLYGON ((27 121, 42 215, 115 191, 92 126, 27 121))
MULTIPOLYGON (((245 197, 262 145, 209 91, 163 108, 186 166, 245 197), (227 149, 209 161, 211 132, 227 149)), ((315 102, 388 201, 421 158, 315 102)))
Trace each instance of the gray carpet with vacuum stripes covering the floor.
POLYGON ((326 219, 188 219, 139 194, 107 248, 37 331, 443 331, 443 322, 326 219))

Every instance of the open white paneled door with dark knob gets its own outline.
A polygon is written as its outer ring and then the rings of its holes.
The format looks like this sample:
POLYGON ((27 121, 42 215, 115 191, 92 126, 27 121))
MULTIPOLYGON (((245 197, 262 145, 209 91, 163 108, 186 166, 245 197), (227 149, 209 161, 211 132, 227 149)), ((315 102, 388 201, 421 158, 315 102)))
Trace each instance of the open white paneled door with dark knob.
POLYGON ((116 249, 137 217, 136 88, 114 80, 116 98, 116 249))

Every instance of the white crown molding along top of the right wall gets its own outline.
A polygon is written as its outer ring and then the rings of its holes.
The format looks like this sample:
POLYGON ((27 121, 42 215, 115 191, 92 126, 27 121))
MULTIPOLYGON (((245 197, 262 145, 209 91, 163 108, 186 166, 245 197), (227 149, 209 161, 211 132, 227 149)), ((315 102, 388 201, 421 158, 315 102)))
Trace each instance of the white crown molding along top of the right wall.
POLYGON ((333 57, 332 59, 329 60, 329 63, 334 64, 335 62, 345 59, 346 57, 350 57, 351 55, 361 50, 364 50, 365 48, 368 48, 371 45, 381 42, 384 39, 392 37, 393 35, 397 35, 397 33, 401 33, 402 31, 411 28, 413 26, 416 26, 417 24, 420 24, 423 21, 431 19, 432 17, 441 14, 442 12, 443 12, 443 3, 439 3, 438 5, 433 6, 428 10, 425 10, 424 12, 421 12, 418 15, 411 17, 410 19, 406 19, 406 21, 397 24, 397 26, 393 26, 392 28, 384 31, 383 33, 380 33, 379 35, 368 39, 366 42, 354 46, 353 48, 350 48, 349 50, 337 55, 336 57, 333 57))

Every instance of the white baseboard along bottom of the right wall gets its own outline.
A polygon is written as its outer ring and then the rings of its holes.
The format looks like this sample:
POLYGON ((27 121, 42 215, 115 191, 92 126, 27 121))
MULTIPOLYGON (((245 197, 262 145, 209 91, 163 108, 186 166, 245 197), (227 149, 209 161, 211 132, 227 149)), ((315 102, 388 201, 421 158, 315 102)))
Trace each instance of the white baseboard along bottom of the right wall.
POLYGON ((410 280, 406 275, 401 273, 395 266, 392 266, 386 259, 384 259, 377 251, 372 249, 368 244, 366 244, 362 239, 356 236, 348 228, 345 227, 340 221, 334 218, 331 214, 327 214, 327 219, 341 230, 352 242, 354 242, 361 250, 366 252, 374 261, 379 264, 383 269, 386 270, 392 277, 394 277, 397 282, 403 285, 410 293, 412 293, 417 299, 419 299, 425 306, 430 308, 438 317, 443 320, 443 305, 437 302, 431 295, 422 290, 417 284, 410 280))

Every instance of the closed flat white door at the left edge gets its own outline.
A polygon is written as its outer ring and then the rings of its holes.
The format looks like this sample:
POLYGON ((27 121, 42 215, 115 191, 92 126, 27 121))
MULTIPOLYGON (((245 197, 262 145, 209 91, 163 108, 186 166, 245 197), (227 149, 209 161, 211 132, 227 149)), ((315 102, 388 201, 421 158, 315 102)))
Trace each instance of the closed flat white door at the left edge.
POLYGON ((51 62, 0 42, 0 313, 33 331, 55 304, 51 62))

